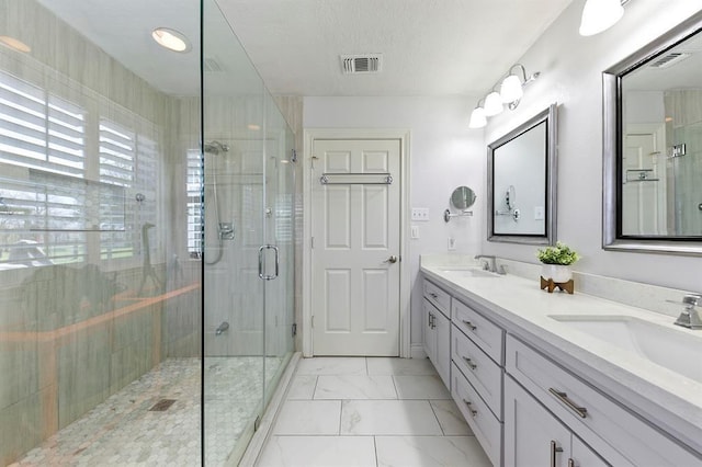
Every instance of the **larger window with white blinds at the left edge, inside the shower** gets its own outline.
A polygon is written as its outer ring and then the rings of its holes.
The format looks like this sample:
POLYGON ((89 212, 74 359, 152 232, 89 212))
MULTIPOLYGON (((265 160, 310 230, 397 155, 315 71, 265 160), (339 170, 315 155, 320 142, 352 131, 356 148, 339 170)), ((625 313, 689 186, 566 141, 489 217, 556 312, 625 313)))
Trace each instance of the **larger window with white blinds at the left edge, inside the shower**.
POLYGON ((86 111, 0 71, 0 262, 84 261, 86 111))

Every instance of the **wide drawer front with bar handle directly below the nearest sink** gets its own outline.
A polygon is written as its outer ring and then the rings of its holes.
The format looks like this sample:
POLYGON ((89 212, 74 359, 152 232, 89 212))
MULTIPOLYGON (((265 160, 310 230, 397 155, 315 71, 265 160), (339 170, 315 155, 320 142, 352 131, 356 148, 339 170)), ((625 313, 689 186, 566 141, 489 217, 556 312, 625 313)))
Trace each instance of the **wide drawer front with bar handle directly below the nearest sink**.
POLYGON ((693 466, 702 458, 512 335, 507 372, 599 455, 635 466, 693 466), (614 459, 624 458, 625 462, 614 459))

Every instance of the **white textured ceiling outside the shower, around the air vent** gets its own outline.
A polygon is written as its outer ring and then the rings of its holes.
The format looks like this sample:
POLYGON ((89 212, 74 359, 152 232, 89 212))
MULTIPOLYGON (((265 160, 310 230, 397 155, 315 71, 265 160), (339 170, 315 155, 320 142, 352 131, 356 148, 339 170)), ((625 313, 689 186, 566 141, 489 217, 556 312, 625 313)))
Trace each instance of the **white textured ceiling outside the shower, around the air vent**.
POLYGON ((274 94, 477 95, 485 93, 571 1, 217 3, 274 94), (339 55, 363 53, 383 54, 382 73, 342 75, 339 55))

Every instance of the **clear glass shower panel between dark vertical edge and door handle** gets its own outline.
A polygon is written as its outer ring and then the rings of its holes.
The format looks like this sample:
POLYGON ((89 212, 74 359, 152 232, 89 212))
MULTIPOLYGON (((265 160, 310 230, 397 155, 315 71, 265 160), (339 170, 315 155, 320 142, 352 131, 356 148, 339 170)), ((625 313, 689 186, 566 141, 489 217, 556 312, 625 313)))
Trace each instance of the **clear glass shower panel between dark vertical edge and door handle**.
POLYGON ((204 460, 236 465, 263 411, 265 88, 203 0, 204 460))

